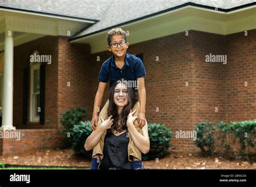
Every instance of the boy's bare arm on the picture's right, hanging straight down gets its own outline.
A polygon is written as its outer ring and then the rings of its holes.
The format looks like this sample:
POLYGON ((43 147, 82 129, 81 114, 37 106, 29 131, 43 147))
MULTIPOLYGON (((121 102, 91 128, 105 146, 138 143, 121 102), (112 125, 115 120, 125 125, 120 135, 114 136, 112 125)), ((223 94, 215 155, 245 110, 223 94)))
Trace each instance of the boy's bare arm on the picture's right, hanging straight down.
POLYGON ((146 118, 145 118, 145 109, 146 109, 146 89, 145 89, 145 79, 144 77, 140 77, 137 79, 139 82, 139 104, 140 104, 140 111, 138 115, 138 122, 139 122, 139 127, 142 128, 146 123, 146 118))

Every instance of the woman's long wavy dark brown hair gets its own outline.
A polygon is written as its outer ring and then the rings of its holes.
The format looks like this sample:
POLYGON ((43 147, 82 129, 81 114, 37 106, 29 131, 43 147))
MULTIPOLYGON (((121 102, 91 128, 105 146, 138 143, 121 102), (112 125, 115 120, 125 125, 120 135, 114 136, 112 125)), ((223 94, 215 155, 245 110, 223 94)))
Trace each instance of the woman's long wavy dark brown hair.
POLYGON ((116 81, 112 85, 112 87, 110 88, 110 91, 109 91, 109 107, 107 109, 107 115, 113 116, 112 119, 114 119, 114 120, 113 120, 113 125, 110 128, 110 131, 114 132, 114 133, 127 130, 127 126, 126 126, 127 116, 129 115, 130 110, 133 108, 133 106, 138 102, 138 98, 139 98, 138 91, 127 85, 128 103, 127 103, 127 105, 125 105, 122 114, 120 116, 118 115, 117 106, 114 103, 114 88, 116 87, 116 85, 118 83, 123 83, 124 81, 127 81, 127 80, 122 78, 122 79, 116 81))

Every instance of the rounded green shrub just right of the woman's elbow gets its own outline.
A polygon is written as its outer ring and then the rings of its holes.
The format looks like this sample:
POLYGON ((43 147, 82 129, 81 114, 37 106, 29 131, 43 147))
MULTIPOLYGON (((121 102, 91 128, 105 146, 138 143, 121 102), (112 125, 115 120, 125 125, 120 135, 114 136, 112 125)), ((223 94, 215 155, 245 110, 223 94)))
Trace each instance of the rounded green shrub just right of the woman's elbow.
POLYGON ((172 131, 164 125, 149 123, 150 151, 143 154, 143 160, 156 159, 168 153, 172 131))

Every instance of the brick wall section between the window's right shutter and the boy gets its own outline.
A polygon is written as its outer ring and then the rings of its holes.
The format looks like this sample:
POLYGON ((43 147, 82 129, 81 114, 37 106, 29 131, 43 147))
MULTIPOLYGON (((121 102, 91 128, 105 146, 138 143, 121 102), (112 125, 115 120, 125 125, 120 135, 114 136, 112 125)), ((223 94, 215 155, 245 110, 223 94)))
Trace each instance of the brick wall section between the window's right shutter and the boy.
MULTIPOLYGON (((91 108, 91 56, 85 44, 58 39, 58 128, 62 113, 76 106, 91 108)), ((89 111, 90 112, 90 111, 89 111)), ((90 116, 90 114, 89 114, 90 116)), ((89 118, 88 118, 89 119, 89 118)))

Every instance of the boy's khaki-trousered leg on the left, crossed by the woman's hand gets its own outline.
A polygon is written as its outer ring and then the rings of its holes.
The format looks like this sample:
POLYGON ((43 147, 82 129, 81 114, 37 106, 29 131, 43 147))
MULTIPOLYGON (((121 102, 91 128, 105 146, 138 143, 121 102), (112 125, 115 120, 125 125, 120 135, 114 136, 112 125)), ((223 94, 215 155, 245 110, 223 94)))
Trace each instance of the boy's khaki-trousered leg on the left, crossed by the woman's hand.
MULTIPOLYGON (((107 117, 107 108, 108 107, 109 107, 109 100, 107 100, 103 109, 99 113, 99 117, 101 116, 104 120, 108 118, 107 117)), ((102 124, 102 120, 100 120, 100 118, 99 118, 96 128, 98 128, 98 126, 100 126, 100 124, 102 124)), ((100 137, 99 142, 97 143, 97 145, 95 147, 93 147, 92 157, 94 157, 96 154, 98 154, 100 156, 100 159, 103 159, 103 147, 104 147, 105 135, 106 135, 106 131, 100 137)))

